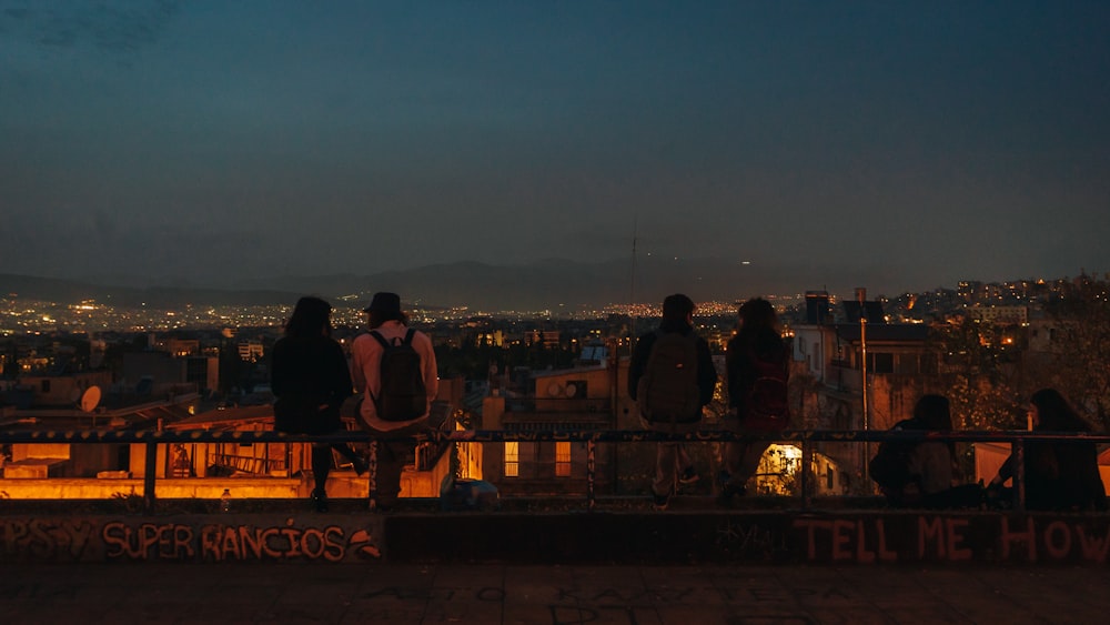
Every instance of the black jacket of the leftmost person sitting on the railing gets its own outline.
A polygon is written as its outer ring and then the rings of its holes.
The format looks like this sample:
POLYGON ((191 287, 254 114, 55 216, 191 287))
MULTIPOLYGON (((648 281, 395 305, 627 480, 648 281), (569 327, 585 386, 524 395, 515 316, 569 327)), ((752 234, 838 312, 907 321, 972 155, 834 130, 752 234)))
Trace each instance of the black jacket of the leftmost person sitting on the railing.
POLYGON ((275 429, 290 433, 340 430, 340 406, 353 392, 343 347, 324 335, 280 339, 271 359, 270 386, 278 397, 275 429))

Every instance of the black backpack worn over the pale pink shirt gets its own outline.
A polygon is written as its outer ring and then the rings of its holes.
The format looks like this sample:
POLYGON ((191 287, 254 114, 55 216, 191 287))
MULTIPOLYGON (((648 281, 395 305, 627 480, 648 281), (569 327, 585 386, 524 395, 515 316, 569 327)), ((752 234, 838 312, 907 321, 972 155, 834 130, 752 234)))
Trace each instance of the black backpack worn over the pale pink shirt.
POLYGON ((413 349, 415 333, 416 330, 410 327, 404 340, 394 339, 391 342, 376 330, 371 331, 382 344, 382 386, 379 396, 371 395, 382 421, 412 421, 427 412, 424 371, 420 354, 413 349))

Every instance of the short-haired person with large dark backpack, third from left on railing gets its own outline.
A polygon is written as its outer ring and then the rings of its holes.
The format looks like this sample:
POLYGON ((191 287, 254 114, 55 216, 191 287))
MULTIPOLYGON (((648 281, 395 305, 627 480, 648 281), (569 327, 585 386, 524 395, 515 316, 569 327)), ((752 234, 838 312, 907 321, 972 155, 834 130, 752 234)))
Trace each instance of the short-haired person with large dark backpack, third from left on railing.
MULTIPOLYGON (((658 330, 639 337, 628 367, 628 395, 642 423, 668 434, 697 431, 716 385, 709 344, 694 333, 694 301, 680 293, 667 296, 658 330)), ((679 442, 660 442, 655 465, 654 505, 666 510, 675 482, 688 484, 698 475, 679 442)))

